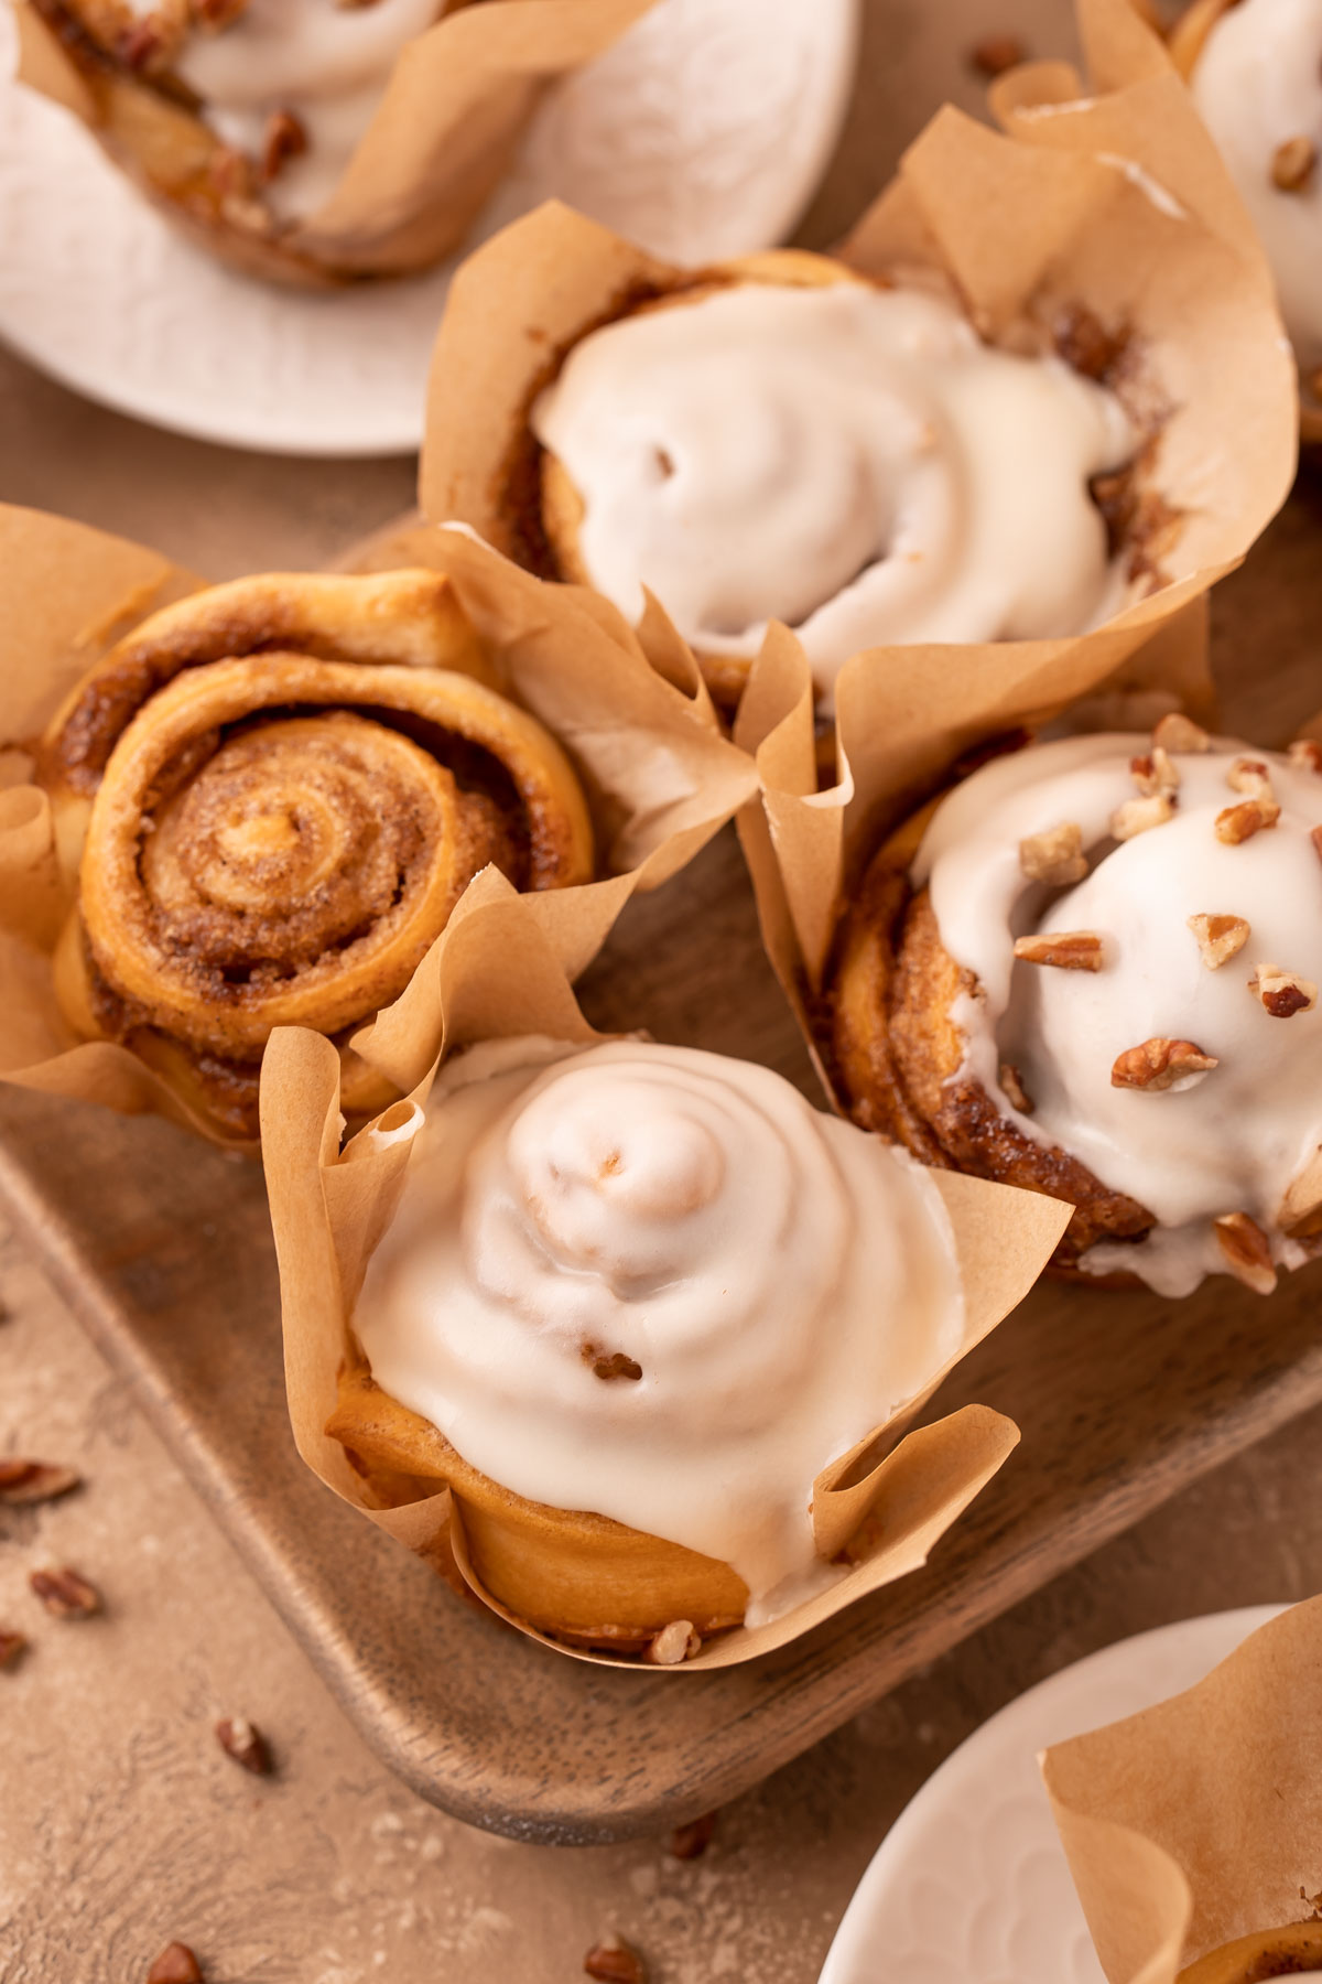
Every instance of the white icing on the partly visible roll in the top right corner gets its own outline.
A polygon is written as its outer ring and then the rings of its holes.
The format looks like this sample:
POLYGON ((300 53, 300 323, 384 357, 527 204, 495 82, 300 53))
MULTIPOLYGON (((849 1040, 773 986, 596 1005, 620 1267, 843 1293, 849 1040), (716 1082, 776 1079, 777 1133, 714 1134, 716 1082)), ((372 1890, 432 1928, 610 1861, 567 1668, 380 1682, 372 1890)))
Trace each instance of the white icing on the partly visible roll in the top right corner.
POLYGON ((1322 0, 1239 0, 1215 22, 1189 87, 1249 208, 1304 367, 1322 363, 1322 179, 1282 188, 1282 145, 1322 153, 1322 0))

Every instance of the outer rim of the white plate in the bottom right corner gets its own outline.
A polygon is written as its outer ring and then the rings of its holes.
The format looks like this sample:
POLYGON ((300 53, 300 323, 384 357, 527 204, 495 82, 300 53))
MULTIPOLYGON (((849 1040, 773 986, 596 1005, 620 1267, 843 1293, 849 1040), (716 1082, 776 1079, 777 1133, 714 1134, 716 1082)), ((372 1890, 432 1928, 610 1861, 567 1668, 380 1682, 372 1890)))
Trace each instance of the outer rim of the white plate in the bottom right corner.
MULTIPOLYGON (((1116 1714, 1138 1714, 1142 1708, 1152 1708, 1156 1702, 1195 1686, 1213 1667, 1219 1667, 1221 1661, 1235 1653, 1251 1633, 1257 1633, 1259 1627, 1286 1609, 1286 1605, 1243 1605, 1233 1611, 1199 1613, 1193 1619, 1177 1619, 1171 1625, 1136 1633, 1132 1639, 1114 1641, 1110 1647, 1102 1647, 1074 1661, 1070 1667, 1062 1667, 1058 1673, 1048 1674, 1047 1680, 1039 1680, 1037 1686, 1027 1688, 1025 1694, 1015 1696, 995 1716, 989 1716, 957 1750, 951 1750, 945 1762, 914 1794, 882 1839, 840 1919, 819 1984, 864 1984, 864 1978, 884 1984, 880 1968, 874 1966, 876 1946, 870 1944, 882 1903, 892 1887, 904 1879, 924 1827, 951 1799, 969 1766, 983 1752, 997 1748, 1005 1734, 1015 1734, 1017 1744, 1037 1756, 1048 1744, 1064 1740, 1054 1726, 1056 1716, 1064 1708, 1076 1712, 1070 1716, 1070 1722, 1072 1732, 1078 1736, 1090 1728, 1102 1728, 1116 1714), (1177 1680, 1175 1686, 1163 1680, 1156 1692, 1144 1688, 1144 1674, 1152 1665, 1154 1653, 1183 1657, 1181 1665, 1187 1669, 1187 1678, 1177 1680), (1122 1710, 1108 1706, 1092 1714, 1088 1702, 1116 1680, 1130 1682, 1132 1704, 1122 1710)), ((1043 1811, 1047 1811, 1045 1792, 1043 1811)), ((983 1980, 969 1974, 967 1984, 983 1984, 983 1980)), ((1021 1984, 1058 1984, 1058 1980, 1025 1976, 1021 1984)))

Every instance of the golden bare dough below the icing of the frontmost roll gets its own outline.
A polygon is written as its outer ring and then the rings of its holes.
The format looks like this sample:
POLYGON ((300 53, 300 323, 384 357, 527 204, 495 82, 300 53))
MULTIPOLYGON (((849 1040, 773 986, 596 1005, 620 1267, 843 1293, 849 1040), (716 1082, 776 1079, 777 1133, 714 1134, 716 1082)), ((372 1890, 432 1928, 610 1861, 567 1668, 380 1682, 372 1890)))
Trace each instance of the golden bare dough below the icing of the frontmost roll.
POLYGON ((676 1619, 706 1639, 741 1625, 747 1585, 727 1563, 628 1530, 608 1516, 547 1508, 472 1468, 446 1436, 355 1365, 325 1428, 383 1502, 444 1482, 480 1583, 519 1619, 610 1653, 642 1651, 676 1619))

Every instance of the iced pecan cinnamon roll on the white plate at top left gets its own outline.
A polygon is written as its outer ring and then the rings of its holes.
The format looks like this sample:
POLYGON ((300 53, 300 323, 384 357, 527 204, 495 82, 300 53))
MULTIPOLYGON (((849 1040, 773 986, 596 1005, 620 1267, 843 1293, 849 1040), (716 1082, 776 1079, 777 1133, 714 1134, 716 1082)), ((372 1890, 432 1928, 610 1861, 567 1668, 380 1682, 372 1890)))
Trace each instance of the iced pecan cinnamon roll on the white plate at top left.
MULTIPOLYGON (((476 4, 476 0, 458 0, 476 4)), ((323 208, 404 48, 450 0, 32 0, 91 89, 111 157, 208 248, 254 274, 388 274, 323 260, 299 226, 323 208)))

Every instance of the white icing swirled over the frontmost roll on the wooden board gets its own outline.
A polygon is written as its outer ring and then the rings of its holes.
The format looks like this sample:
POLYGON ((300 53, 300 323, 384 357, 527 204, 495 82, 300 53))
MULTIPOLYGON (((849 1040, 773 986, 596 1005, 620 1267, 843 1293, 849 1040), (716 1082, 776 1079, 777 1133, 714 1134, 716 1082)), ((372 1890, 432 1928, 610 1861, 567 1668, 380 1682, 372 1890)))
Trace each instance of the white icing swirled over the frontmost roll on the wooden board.
POLYGON ((932 1178, 781 1075, 521 1040, 442 1077, 355 1329, 472 1466, 731 1563, 753 1625, 838 1575, 813 1482, 963 1315, 932 1178))

